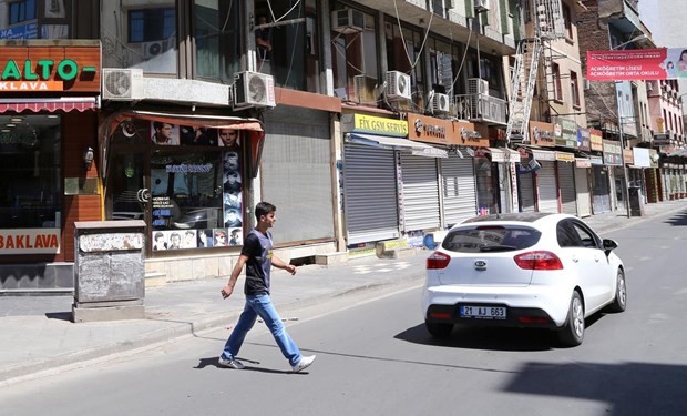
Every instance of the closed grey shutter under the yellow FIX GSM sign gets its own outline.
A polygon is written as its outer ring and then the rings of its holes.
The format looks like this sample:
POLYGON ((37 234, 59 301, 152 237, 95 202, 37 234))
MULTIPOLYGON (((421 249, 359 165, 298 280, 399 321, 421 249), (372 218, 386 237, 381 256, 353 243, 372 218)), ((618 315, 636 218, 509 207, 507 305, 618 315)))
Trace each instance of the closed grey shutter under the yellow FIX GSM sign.
POLYGON ((393 151, 346 143, 344 210, 348 244, 397 239, 397 201, 393 151))

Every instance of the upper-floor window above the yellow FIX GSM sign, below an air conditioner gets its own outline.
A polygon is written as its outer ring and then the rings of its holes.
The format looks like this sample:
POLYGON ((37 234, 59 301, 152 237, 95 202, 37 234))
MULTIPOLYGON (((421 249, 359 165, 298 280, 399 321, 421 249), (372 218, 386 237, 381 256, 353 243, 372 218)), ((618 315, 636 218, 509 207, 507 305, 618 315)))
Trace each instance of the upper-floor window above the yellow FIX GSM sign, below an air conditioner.
MULTIPOLYGON (((341 7, 336 10, 346 10, 341 7)), ((334 88, 337 97, 370 102, 376 101, 375 85, 379 84, 379 61, 377 59, 377 37, 375 17, 355 11, 363 22, 360 27, 332 27, 331 54, 334 62, 334 88), (358 90, 356 91, 356 77, 358 90), (363 78, 361 78, 363 77, 363 78), (366 83, 367 82, 367 83, 366 83), (358 97, 358 93, 361 97, 358 97)), ((353 16, 352 12, 349 16, 353 16)))

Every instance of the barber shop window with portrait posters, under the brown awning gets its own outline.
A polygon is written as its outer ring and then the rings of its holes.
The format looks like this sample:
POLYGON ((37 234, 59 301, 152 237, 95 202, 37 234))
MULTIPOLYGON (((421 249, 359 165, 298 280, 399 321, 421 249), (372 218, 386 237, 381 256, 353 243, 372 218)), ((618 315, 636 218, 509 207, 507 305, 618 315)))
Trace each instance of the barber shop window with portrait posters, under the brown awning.
POLYGON ((112 142, 112 220, 147 221, 153 251, 243 244, 240 131, 126 120, 112 142))

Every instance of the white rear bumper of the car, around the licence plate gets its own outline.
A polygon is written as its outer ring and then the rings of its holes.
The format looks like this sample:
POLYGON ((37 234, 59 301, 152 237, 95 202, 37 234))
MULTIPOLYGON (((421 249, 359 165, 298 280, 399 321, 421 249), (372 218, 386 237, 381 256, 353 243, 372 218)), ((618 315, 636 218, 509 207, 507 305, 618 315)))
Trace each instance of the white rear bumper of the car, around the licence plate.
POLYGON ((565 325, 573 288, 433 286, 423 294, 428 322, 556 328, 565 325), (505 318, 461 317, 461 306, 505 307, 505 318))

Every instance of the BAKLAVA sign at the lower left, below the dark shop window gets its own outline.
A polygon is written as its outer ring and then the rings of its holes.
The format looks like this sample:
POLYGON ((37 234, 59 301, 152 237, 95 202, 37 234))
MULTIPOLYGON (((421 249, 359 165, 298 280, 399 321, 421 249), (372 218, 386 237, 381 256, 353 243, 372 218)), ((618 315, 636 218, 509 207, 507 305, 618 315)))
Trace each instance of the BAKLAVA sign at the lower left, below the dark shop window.
POLYGON ((0 255, 58 253, 60 253, 60 229, 0 230, 0 255))

